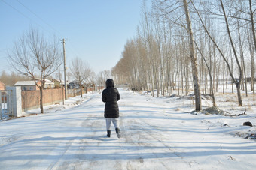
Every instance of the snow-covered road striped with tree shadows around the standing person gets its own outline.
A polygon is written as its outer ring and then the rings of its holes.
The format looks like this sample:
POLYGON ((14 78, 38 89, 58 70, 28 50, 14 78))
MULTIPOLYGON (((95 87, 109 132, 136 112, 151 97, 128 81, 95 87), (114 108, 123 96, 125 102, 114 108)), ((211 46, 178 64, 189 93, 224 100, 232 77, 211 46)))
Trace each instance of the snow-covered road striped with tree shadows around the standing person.
POLYGON ((105 137, 104 103, 93 94, 71 109, 0 122, 0 169, 255 169, 255 141, 232 135, 252 127, 191 115, 190 100, 119 91, 122 138, 113 125, 105 137))

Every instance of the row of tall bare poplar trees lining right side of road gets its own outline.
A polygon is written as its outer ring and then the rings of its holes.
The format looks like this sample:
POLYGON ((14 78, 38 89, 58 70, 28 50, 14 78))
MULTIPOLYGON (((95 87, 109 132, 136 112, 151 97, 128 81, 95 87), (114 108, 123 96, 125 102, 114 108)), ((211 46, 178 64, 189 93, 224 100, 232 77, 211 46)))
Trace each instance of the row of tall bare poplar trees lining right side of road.
POLYGON ((143 1, 137 34, 111 73, 117 83, 157 97, 194 88, 196 110, 201 93, 212 94, 215 106, 218 85, 229 80, 242 106, 240 90, 247 94, 254 82, 255 10, 252 0, 143 1))

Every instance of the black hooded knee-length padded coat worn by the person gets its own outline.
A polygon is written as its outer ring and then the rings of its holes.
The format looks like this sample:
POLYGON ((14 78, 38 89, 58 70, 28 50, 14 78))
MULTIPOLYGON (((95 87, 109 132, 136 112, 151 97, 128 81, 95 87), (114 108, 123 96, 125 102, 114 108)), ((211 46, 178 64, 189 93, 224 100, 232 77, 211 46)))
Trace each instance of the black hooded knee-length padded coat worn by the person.
POLYGON ((105 102, 105 118, 118 118, 119 108, 117 101, 120 100, 120 94, 117 88, 114 88, 113 79, 107 79, 107 88, 102 92, 102 102, 105 102))

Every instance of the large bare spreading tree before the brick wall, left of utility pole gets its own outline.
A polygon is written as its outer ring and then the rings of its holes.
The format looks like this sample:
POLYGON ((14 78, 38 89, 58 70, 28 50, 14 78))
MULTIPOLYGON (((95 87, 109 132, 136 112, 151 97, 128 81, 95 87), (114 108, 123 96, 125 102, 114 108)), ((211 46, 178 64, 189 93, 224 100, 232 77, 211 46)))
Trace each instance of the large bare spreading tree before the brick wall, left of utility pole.
POLYGON ((59 51, 56 40, 48 41, 43 34, 39 34, 38 30, 31 29, 14 43, 14 49, 8 54, 12 67, 18 73, 32 78, 40 89, 41 113, 44 113, 45 79, 62 64, 62 56, 59 51))

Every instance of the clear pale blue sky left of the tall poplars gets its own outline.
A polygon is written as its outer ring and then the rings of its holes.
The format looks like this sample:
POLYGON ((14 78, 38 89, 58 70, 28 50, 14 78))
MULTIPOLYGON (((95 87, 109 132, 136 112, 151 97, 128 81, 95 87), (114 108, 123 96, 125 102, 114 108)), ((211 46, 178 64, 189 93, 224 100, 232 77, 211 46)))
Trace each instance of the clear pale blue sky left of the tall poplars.
POLYGON ((141 0, 0 0, 0 73, 11 70, 7 51, 30 28, 68 39, 67 66, 79 57, 96 73, 110 70, 136 36, 141 6, 141 0))

